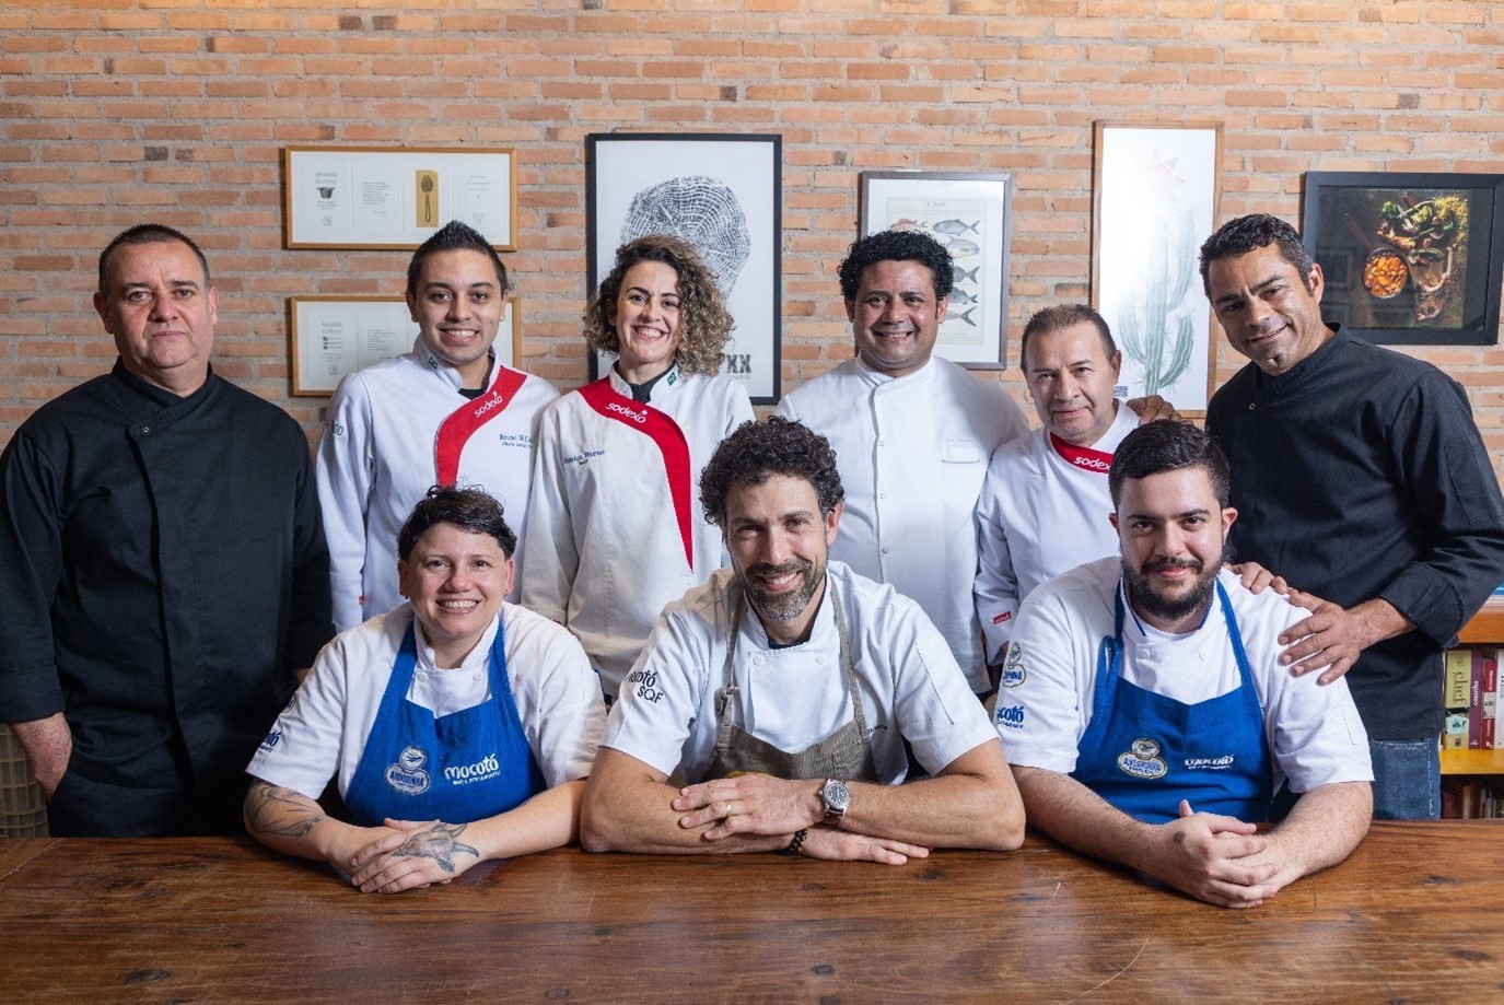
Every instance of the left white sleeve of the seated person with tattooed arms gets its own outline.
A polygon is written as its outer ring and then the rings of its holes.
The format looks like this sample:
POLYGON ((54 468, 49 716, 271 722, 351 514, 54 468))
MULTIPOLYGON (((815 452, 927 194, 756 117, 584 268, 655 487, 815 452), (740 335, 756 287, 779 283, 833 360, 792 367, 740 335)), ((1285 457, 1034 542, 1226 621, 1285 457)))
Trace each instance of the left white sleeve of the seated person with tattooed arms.
POLYGON ((340 766, 347 709, 346 653, 340 638, 325 645, 292 701, 277 716, 247 772, 319 799, 340 766))

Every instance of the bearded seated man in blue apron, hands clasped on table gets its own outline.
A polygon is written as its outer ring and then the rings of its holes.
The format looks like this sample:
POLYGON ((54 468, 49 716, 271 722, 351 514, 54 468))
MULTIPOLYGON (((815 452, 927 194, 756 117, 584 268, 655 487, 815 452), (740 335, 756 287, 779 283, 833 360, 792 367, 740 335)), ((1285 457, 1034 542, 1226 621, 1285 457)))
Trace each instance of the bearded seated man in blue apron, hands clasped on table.
POLYGON ((1346 685, 1278 662, 1307 612, 1221 570, 1227 460, 1151 423, 1108 480, 1120 557, 1035 590, 1003 665, 997 731, 1029 820, 1063 844, 1223 907, 1343 861, 1373 808, 1346 685), (1296 794, 1281 823, 1274 793, 1296 794))

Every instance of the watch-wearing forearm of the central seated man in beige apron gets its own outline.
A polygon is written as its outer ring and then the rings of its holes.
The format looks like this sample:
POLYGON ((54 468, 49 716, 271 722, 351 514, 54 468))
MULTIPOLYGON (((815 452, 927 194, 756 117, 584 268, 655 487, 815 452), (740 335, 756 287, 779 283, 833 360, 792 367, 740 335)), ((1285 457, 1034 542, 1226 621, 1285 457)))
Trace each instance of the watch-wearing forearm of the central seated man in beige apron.
POLYGON ((1024 806, 1002 748, 988 740, 935 778, 851 784, 851 808, 839 826, 929 849, 1011 852, 1024 840, 1024 806))

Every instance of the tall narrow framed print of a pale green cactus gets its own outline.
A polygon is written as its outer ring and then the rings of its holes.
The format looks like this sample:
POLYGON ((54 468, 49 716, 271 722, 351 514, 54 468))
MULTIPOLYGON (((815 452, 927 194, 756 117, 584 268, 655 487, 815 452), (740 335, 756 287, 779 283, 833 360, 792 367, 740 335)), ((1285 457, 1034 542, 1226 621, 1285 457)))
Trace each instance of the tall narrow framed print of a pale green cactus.
POLYGON ((1199 254, 1221 199, 1221 123, 1098 122, 1092 307, 1123 355, 1117 397, 1161 394, 1202 417, 1217 381, 1199 254))

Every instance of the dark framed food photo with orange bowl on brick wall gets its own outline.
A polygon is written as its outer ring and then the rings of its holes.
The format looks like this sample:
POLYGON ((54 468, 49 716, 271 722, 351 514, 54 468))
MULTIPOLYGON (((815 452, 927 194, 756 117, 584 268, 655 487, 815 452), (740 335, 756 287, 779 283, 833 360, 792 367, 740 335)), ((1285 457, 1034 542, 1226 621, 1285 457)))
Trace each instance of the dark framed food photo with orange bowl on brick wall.
POLYGON ((1367 342, 1498 342, 1501 197, 1504 175, 1307 172, 1322 317, 1367 342))

